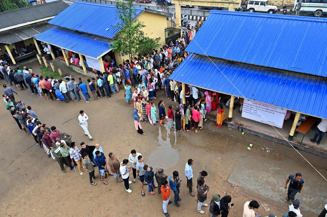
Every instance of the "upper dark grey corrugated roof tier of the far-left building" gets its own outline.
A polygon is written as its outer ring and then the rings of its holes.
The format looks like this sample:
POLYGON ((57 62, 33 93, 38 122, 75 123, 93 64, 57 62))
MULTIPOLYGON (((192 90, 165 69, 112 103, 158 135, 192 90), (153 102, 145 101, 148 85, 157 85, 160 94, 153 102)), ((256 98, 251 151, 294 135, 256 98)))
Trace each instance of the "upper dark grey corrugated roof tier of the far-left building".
POLYGON ((0 29, 55 16, 68 6, 63 1, 55 1, 2 12, 0 13, 0 29))

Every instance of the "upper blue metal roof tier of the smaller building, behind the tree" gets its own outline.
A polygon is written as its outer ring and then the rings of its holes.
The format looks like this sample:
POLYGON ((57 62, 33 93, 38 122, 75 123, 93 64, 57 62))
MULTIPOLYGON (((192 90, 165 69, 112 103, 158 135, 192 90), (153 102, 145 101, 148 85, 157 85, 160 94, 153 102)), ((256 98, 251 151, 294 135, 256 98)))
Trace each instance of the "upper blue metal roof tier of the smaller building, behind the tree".
MULTIPOLYGON (((142 7, 134 8, 136 14, 144 10, 142 7)), ((81 1, 74 2, 49 23, 106 38, 113 38, 119 31, 113 25, 121 25, 116 17, 116 6, 81 1)))

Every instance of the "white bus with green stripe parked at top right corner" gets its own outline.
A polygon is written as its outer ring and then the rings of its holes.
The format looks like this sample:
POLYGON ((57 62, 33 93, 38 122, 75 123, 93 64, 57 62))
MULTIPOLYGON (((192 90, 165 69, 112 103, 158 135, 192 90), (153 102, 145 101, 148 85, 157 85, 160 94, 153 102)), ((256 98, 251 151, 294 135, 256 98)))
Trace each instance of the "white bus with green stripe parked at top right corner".
MULTIPOLYGON (((292 10, 296 11, 298 4, 299 0, 295 0, 292 10)), ((327 14, 327 0, 302 0, 300 12, 313 14, 315 17, 327 14)))

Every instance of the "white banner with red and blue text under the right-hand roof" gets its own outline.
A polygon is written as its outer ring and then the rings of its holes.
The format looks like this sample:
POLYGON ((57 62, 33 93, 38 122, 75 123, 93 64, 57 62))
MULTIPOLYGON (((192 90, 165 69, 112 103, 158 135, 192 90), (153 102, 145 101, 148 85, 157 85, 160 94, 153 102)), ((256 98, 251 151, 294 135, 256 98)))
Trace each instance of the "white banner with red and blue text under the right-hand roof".
POLYGON ((273 126, 282 128, 286 109, 269 106, 267 104, 244 100, 242 117, 248 118, 261 123, 271 124, 273 126), (249 104, 250 102, 250 104, 249 104), (255 107, 255 108, 253 108, 255 107), (265 117, 262 117, 261 114, 265 117))

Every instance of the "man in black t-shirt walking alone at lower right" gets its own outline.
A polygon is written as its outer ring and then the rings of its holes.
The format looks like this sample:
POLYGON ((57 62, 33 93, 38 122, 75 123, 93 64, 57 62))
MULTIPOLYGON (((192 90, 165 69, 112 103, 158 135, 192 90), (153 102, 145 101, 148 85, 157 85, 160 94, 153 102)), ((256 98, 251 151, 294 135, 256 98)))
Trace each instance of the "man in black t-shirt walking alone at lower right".
POLYGON ((287 183, 289 181, 291 181, 291 182, 289 183, 289 186, 288 186, 287 197, 284 200, 286 203, 291 199, 291 204, 292 204, 293 201, 295 200, 295 195, 298 192, 301 193, 303 184, 304 184, 304 181, 301 177, 302 177, 301 173, 297 173, 295 175, 290 175, 287 178, 285 186, 284 186, 285 189, 287 188, 287 183))

